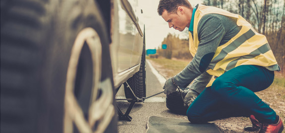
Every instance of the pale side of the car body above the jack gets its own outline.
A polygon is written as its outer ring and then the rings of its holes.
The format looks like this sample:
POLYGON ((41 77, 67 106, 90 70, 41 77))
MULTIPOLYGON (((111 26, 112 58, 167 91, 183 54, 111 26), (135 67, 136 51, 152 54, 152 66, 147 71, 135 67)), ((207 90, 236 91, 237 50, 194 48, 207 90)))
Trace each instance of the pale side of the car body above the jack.
POLYGON ((114 88, 139 71, 144 47, 144 24, 138 0, 113 0, 111 59, 114 88))

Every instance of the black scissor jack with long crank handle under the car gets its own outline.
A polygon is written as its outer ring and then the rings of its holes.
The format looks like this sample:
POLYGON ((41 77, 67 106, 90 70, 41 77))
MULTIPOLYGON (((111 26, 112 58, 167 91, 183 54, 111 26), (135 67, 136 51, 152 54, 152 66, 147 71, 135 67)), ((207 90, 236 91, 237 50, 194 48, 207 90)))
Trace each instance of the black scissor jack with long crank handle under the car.
POLYGON ((121 111, 121 109, 119 108, 119 106, 117 104, 117 111, 118 111, 118 115, 119 115, 119 120, 120 121, 131 121, 132 120, 132 117, 129 116, 129 113, 131 112, 131 110, 132 110, 132 108, 133 108, 133 106, 135 105, 136 102, 144 102, 144 100, 146 100, 148 98, 151 98, 151 97, 154 97, 154 96, 159 95, 159 94, 164 92, 164 91, 162 91, 160 93, 154 94, 154 95, 152 95, 150 97, 146 97, 146 98, 144 98, 144 97, 138 98, 134 94, 133 90, 131 89, 131 87, 129 86, 129 84, 127 82, 124 82, 123 84, 124 84, 124 86, 126 86, 131 91, 133 99, 116 99, 116 100, 128 100, 128 101, 131 102, 129 107, 128 107, 128 109, 127 109, 127 111, 125 113, 123 113, 121 111))

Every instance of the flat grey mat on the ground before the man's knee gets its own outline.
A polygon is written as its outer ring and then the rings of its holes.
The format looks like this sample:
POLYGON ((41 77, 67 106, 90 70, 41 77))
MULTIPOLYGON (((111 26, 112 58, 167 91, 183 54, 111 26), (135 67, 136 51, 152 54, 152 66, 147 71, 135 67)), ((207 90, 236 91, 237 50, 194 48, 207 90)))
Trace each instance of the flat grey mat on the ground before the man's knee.
POLYGON ((146 133, 222 133, 214 124, 191 124, 189 121, 151 116, 146 133))

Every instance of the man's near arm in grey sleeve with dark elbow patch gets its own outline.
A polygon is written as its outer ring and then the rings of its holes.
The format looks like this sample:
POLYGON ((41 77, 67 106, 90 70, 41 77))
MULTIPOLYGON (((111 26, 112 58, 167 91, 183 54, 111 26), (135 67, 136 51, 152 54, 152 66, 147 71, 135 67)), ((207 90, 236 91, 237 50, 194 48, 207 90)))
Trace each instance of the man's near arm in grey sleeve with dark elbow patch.
POLYGON ((200 43, 193 60, 173 77, 175 84, 186 88, 196 77, 206 71, 225 35, 222 20, 213 15, 205 15, 198 24, 200 43))

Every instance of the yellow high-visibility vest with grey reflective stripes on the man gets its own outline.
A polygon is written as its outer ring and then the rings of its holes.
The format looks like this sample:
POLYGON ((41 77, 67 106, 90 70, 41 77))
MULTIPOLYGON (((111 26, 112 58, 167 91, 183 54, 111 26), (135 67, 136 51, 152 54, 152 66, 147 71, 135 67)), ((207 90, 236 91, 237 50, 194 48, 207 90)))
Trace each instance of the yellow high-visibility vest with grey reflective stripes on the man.
POLYGON ((198 23, 204 15, 209 13, 236 18, 236 24, 241 26, 241 30, 227 43, 217 48, 207 70, 215 78, 208 83, 207 87, 211 86, 217 77, 236 66, 273 66, 277 64, 265 35, 257 33, 244 18, 226 10, 202 4, 199 4, 195 12, 193 37, 189 32, 189 50, 193 57, 200 42, 197 34, 198 23))

